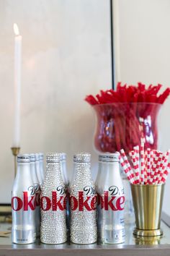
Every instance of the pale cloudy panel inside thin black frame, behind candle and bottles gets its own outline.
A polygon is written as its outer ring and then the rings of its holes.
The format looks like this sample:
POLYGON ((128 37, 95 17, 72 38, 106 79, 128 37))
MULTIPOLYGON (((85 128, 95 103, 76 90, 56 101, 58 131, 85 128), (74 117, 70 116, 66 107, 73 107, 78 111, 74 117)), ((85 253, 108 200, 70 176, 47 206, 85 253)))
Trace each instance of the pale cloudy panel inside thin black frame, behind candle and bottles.
POLYGON ((84 97, 110 88, 109 1, 0 0, 0 202, 14 178, 14 32, 23 37, 22 152, 93 150, 94 114, 84 97))

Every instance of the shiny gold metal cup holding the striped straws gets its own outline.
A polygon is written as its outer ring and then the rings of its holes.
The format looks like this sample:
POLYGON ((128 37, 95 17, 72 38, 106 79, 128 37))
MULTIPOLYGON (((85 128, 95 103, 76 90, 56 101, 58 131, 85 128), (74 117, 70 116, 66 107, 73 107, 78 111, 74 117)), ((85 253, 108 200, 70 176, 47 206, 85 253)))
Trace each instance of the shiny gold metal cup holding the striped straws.
POLYGON ((164 197, 164 184, 131 184, 133 206, 135 210, 137 236, 161 236, 161 209, 164 197))

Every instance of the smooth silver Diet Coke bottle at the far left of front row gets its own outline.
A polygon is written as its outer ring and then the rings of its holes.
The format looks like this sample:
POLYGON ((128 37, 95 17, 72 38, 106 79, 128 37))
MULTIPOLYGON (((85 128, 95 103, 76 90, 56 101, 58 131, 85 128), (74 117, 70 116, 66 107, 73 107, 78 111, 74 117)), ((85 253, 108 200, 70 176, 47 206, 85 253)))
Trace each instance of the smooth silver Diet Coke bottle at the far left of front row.
POLYGON ((35 187, 30 171, 30 155, 17 156, 17 176, 12 188, 12 242, 35 242, 35 187))

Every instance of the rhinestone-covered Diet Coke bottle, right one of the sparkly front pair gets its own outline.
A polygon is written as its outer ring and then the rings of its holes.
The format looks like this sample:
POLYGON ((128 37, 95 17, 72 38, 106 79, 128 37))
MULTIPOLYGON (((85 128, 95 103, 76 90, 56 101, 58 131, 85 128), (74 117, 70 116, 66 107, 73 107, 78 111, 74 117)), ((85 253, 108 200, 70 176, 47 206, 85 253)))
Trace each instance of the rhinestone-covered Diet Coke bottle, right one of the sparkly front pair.
POLYGON ((91 155, 74 155, 74 179, 69 188, 70 239, 75 244, 97 242, 97 195, 91 178, 91 155))

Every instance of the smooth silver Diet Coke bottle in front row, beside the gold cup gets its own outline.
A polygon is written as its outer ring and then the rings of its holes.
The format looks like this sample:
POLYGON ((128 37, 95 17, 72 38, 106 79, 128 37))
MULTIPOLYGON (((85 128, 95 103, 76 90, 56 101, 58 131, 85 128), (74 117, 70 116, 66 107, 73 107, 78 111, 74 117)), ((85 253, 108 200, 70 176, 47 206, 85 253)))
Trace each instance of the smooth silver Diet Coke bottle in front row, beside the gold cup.
POLYGON ((118 153, 99 155, 97 228, 99 242, 120 244, 125 242, 125 195, 120 176, 118 153))

